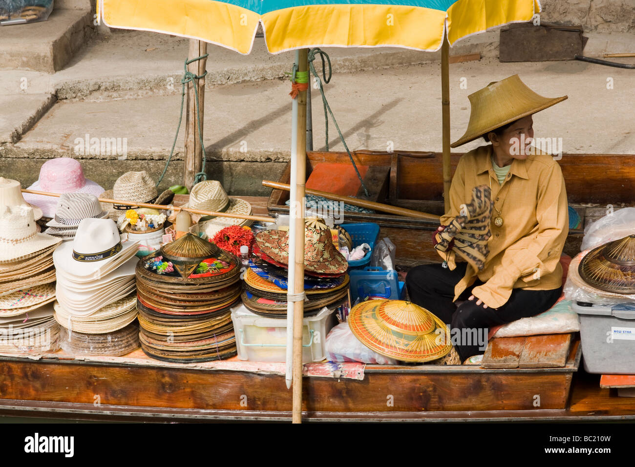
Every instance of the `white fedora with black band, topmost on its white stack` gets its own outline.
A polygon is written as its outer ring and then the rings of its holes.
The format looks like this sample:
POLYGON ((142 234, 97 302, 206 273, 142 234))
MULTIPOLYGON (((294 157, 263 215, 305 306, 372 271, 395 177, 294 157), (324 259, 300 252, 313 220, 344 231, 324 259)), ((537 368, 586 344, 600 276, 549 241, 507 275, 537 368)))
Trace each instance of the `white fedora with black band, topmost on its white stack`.
MULTIPOLYGON (((56 269, 72 276, 91 276, 108 268, 111 262, 130 254, 136 242, 121 243, 119 229, 110 219, 82 219, 72 242, 53 252, 56 269)), ((133 255, 136 250, 133 250, 133 255)))

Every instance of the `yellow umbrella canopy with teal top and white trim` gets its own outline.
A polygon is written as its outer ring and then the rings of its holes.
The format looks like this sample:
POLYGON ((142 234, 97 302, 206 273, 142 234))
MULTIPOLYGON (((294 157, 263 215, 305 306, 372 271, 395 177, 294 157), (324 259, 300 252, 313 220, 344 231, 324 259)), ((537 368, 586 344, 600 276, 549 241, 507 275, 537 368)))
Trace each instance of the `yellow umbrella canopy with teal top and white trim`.
POLYGON ((439 50, 528 21, 537 0, 98 0, 104 24, 200 39, 248 54, 258 23, 271 53, 307 47, 439 50))

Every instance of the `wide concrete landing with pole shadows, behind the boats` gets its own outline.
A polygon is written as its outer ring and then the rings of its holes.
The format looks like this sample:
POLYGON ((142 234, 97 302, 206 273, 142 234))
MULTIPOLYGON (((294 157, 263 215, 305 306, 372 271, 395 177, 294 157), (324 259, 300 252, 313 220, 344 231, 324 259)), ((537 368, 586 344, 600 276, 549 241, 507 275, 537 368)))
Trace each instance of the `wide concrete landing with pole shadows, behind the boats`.
MULTIPOLYGON (((518 73, 541 95, 568 95, 565 102, 534 117, 537 137, 561 138, 563 152, 635 154, 632 72, 584 62, 501 64, 497 60, 450 65, 451 140, 467 127, 467 96, 490 81, 518 73), (607 88, 610 73, 613 88, 607 88), (599 130, 599 131, 598 131, 599 130)), ((441 79, 437 63, 340 73, 326 95, 351 150, 441 151, 441 79)), ((211 179, 236 194, 260 195, 262 178, 276 178, 289 160, 291 100, 287 81, 217 86, 206 91, 204 142, 211 179)), ((17 144, 0 151, 0 173, 15 174, 23 184, 37 178, 43 159, 72 156, 91 167, 94 179, 111 187, 131 167, 155 177, 170 154, 180 96, 97 101, 62 101, 17 144), (89 144, 86 145, 88 134, 89 144), (98 148, 91 154, 91 139, 98 148), (103 140, 102 140, 103 139, 103 140), (110 142, 111 146, 101 143, 110 142), (122 151, 117 152, 117 139, 122 151), (123 151, 123 143, 126 147, 123 151), (125 169, 125 170, 124 170, 125 169)), ((312 93, 314 148, 324 148, 321 97, 312 93)), ((343 151, 330 123, 331 151, 343 151)), ((460 147, 467 151, 481 142, 460 147)), ((181 180, 183 128, 175 164, 168 177, 181 180)))

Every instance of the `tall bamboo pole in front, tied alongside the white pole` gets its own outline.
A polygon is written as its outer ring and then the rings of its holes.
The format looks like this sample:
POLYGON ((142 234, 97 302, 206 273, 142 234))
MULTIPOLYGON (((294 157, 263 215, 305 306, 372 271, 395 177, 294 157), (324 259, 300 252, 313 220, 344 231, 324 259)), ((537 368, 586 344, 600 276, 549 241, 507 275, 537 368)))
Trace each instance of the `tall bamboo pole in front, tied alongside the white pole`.
MULTIPOLYGON (((297 56, 298 71, 309 69, 309 49, 300 49, 297 56)), ((304 294, 304 200, 307 180, 307 91, 300 91, 297 104, 297 139, 295 141, 295 190, 293 200, 297 213, 290 222, 295 224, 295 276, 293 294, 304 294)), ((302 324, 304 301, 293 302, 293 423, 302 423, 302 324)))

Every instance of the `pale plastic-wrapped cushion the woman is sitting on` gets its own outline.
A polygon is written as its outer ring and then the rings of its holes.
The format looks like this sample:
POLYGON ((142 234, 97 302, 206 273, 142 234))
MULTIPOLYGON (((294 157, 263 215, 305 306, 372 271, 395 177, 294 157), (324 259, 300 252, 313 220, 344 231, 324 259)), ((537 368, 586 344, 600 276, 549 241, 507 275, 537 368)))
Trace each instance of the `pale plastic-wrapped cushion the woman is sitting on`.
POLYGON ((578 332, 578 314, 571 308, 570 300, 561 300, 540 315, 521 318, 498 328, 493 337, 515 337, 519 335, 565 334, 578 332))

